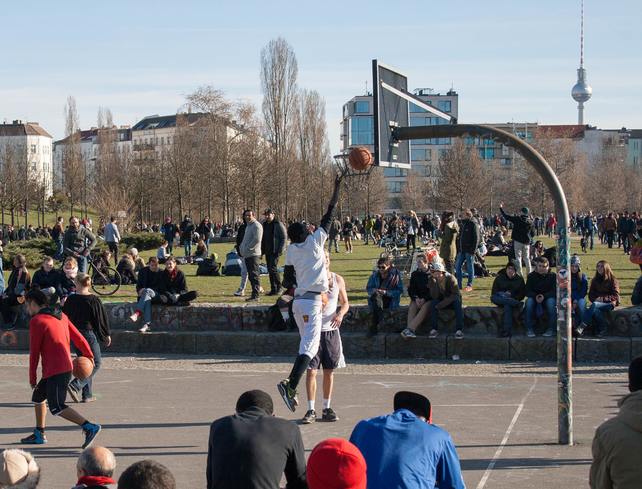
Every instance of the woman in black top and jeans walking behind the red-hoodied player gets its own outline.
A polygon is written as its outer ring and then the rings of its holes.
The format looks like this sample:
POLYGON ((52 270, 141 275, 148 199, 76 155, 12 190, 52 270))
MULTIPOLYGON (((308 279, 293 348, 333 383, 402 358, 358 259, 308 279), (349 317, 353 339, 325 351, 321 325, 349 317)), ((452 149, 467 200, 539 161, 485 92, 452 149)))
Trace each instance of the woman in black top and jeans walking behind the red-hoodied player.
MULTIPOLYGON (((62 307, 62 312, 67 314, 69 321, 78 329, 89 344, 94 356, 94 370, 87 379, 73 379, 67 392, 74 402, 80 402, 78 395, 82 392, 82 402, 92 402, 96 396, 92 394, 91 380, 100 368, 100 343, 105 341, 105 346, 112 343, 111 330, 107 319, 107 311, 100 299, 89 291, 91 277, 87 273, 78 273, 74 278, 76 293, 70 296, 62 307)), ((82 356, 80 348, 74 345, 76 356, 82 356)))

